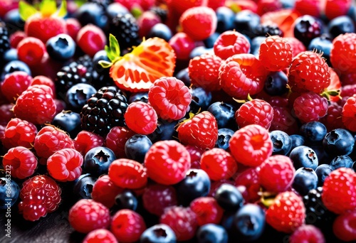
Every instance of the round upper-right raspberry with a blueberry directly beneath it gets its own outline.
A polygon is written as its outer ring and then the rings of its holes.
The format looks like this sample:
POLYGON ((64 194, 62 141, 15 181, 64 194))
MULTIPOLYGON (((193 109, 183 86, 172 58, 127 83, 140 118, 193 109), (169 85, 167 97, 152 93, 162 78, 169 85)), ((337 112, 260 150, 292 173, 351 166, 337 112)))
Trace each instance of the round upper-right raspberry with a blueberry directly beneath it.
POLYGON ((268 36, 260 45, 258 59, 266 70, 276 72, 292 63, 293 48, 280 36, 268 36))

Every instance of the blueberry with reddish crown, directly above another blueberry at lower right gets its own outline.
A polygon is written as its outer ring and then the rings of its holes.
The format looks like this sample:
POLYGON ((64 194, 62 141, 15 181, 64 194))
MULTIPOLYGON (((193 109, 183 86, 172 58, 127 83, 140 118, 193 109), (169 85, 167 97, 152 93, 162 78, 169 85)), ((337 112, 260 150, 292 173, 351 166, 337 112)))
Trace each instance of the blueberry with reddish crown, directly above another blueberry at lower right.
POLYGON ((290 151, 289 158, 293 161, 295 170, 298 168, 312 168, 315 170, 318 167, 318 156, 315 151, 309 146, 298 146, 290 151))

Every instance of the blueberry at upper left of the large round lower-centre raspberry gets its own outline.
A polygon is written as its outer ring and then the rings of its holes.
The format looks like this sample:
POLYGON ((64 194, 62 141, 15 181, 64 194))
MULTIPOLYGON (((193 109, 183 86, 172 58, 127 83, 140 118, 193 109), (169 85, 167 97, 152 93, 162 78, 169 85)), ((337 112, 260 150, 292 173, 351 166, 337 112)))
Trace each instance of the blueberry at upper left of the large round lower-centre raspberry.
POLYGON ((146 135, 135 134, 125 143, 125 153, 127 158, 143 163, 145 155, 152 146, 152 141, 146 135))

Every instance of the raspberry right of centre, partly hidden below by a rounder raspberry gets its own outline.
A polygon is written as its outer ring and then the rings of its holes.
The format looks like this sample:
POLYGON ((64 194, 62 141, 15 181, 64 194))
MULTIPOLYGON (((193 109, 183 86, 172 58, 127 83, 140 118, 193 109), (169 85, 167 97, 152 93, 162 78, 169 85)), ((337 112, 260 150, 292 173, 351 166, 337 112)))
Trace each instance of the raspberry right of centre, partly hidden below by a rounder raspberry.
POLYGON ((269 129, 273 121, 273 107, 263 99, 252 99, 241 105, 235 112, 239 127, 258 124, 269 129))

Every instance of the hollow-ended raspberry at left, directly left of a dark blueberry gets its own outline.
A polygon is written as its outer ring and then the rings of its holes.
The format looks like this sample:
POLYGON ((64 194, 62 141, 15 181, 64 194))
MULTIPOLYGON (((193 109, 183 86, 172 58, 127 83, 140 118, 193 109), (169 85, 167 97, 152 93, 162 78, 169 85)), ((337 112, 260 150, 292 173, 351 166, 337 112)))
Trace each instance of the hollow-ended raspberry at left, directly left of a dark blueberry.
POLYGON ((66 182, 79 178, 82 173, 83 156, 74 148, 63 148, 47 159, 48 173, 58 181, 66 182))

